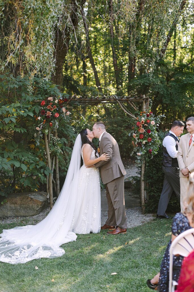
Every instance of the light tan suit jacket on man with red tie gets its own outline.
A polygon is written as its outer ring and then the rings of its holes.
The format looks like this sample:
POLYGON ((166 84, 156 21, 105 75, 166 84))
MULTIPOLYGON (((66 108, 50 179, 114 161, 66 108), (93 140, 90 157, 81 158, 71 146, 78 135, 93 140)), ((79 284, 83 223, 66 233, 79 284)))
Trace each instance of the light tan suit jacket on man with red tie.
MULTIPOLYGON (((193 137, 194 141, 194 137, 193 137)), ((180 168, 180 177, 185 177, 181 173, 181 169, 187 167, 189 172, 192 173, 194 171, 194 142, 191 142, 189 147, 189 133, 181 136, 179 141, 177 160, 180 168)))

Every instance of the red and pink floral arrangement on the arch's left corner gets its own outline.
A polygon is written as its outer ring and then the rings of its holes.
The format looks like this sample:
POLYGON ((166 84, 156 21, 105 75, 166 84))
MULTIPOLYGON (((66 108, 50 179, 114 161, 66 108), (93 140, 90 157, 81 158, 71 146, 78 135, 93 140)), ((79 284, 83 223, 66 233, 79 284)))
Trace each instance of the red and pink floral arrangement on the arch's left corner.
POLYGON ((47 130, 51 128, 56 130, 58 128, 58 118, 62 116, 66 119, 66 116, 71 114, 65 106, 66 102, 67 98, 57 99, 51 96, 42 100, 38 116, 34 116, 37 121, 40 121, 40 124, 36 127, 39 133, 43 129, 45 129, 45 132, 48 132, 47 130))

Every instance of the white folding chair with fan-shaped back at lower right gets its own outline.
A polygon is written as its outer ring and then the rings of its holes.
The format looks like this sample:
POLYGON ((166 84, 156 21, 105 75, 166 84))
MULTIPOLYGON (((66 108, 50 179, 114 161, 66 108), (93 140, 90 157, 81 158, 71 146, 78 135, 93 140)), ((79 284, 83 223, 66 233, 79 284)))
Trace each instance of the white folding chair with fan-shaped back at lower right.
POLYGON ((170 246, 170 263, 169 263, 169 292, 175 291, 178 284, 172 280, 173 255, 187 257, 194 250, 194 228, 186 230, 179 234, 170 246))

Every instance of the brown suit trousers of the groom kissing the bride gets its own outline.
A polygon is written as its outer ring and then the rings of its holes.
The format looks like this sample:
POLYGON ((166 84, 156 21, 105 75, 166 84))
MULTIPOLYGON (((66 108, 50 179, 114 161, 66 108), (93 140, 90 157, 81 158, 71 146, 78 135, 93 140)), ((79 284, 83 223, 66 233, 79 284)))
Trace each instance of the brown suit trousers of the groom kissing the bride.
POLYGON ((106 224, 127 228, 124 203, 124 175, 105 184, 108 201, 108 219, 106 224))

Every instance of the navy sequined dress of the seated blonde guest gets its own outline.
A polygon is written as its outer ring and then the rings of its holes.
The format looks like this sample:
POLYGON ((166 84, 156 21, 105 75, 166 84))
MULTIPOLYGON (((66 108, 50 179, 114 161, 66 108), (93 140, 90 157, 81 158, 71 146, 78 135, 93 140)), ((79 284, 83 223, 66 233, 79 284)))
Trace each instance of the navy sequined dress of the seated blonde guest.
MULTIPOLYGON (((180 233, 184 232, 185 230, 190 229, 191 226, 189 225, 188 219, 182 213, 177 213, 172 222, 172 234, 175 236, 179 235, 180 233)), ((160 292, 168 292, 168 281, 169 281, 169 261, 170 261, 170 245, 171 240, 167 245, 165 254, 163 256, 163 260, 161 263, 160 269, 160 279, 159 279, 159 291, 160 292)), ((182 256, 173 256, 173 280, 178 281, 181 265, 183 261, 182 256)))

